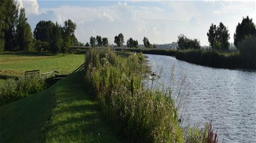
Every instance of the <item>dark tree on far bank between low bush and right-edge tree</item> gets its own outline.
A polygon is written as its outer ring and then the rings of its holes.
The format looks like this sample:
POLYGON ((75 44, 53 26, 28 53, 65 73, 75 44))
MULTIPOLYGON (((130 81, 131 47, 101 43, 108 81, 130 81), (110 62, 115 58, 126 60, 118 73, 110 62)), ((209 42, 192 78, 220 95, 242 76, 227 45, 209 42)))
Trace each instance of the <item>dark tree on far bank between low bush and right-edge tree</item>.
POLYGON ((219 26, 216 27, 215 24, 211 24, 209 31, 207 32, 208 41, 210 43, 211 48, 216 50, 227 51, 229 49, 229 33, 228 29, 222 22, 220 22, 219 26), (220 47, 219 48, 219 44, 220 47), (217 46, 217 47, 215 47, 217 46))

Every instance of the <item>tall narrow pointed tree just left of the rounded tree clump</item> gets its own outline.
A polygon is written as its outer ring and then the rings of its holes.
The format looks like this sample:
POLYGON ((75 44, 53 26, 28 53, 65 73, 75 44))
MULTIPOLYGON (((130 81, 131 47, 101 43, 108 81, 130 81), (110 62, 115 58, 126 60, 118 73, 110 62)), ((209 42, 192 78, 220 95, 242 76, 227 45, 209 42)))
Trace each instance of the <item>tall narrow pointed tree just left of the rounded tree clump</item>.
POLYGON ((25 9, 20 9, 20 15, 17 26, 17 40, 19 50, 29 51, 33 44, 33 36, 25 15, 25 9))

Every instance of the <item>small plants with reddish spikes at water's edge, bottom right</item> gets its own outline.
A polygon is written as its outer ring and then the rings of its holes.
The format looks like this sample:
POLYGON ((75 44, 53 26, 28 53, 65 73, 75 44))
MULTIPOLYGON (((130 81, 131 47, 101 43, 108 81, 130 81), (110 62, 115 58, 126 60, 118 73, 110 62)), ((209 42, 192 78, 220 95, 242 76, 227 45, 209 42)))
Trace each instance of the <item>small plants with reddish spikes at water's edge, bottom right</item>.
POLYGON ((217 133, 213 132, 212 123, 206 123, 204 129, 188 128, 185 143, 217 143, 217 133))

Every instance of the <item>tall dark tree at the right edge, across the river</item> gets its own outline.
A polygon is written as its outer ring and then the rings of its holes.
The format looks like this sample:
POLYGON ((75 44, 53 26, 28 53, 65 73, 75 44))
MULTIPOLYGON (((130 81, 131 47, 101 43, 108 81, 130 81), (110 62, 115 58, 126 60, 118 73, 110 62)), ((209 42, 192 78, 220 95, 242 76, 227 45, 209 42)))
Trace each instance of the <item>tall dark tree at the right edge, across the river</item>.
POLYGON ((249 16, 243 18, 242 22, 236 26, 236 32, 234 33, 234 44, 238 47, 238 43, 241 42, 246 35, 256 35, 255 24, 249 16))

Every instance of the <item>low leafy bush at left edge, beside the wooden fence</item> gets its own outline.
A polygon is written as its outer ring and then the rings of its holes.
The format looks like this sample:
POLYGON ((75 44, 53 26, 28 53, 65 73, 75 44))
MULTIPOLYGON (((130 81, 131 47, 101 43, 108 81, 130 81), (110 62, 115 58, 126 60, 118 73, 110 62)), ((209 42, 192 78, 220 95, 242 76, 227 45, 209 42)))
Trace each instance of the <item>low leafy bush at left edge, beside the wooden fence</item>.
POLYGON ((44 88, 45 81, 36 75, 20 77, 18 80, 7 79, 3 86, 3 93, 0 95, 1 106, 35 94, 44 88))

